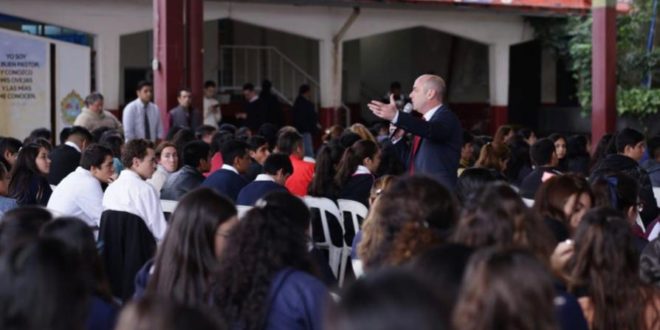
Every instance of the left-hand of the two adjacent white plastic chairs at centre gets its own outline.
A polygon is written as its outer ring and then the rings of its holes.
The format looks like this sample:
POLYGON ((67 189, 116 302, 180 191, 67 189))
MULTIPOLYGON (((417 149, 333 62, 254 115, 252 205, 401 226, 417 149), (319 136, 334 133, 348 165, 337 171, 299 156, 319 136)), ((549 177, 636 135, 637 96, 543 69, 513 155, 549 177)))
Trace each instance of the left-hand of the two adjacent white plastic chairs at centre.
MULTIPOLYGON (((314 242, 314 246, 320 249, 328 250, 328 263, 330 264, 330 269, 336 278, 339 278, 339 263, 341 261, 341 255, 343 252, 343 236, 344 236, 344 225, 341 221, 341 213, 339 213, 339 208, 337 204, 329 198, 324 197, 312 197, 305 196, 303 197, 305 204, 311 210, 318 210, 321 221, 321 228, 323 230, 323 241, 314 242), (330 215, 330 216, 329 216, 330 215), (330 232, 330 222, 336 222, 337 225, 341 228, 341 237, 339 240, 332 239, 332 234, 330 232)), ((314 218, 312 219, 314 221, 314 218)), ((314 224, 312 224, 312 231, 314 231, 314 224)), ((316 226, 318 228, 318 226, 316 226)), ((312 233, 312 237, 316 237, 312 233)))

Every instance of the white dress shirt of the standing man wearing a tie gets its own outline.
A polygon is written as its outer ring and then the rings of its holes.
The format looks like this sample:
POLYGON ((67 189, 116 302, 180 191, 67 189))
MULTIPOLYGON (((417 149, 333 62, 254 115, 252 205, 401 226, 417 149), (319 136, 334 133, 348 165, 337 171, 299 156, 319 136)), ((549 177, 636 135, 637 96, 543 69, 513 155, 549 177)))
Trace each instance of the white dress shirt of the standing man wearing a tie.
POLYGON ((146 106, 138 98, 129 103, 124 108, 122 121, 124 123, 124 136, 126 142, 135 139, 144 139, 144 112, 147 112, 149 118, 150 140, 162 139, 164 137, 163 123, 160 118, 160 110, 153 103, 149 102, 146 106))

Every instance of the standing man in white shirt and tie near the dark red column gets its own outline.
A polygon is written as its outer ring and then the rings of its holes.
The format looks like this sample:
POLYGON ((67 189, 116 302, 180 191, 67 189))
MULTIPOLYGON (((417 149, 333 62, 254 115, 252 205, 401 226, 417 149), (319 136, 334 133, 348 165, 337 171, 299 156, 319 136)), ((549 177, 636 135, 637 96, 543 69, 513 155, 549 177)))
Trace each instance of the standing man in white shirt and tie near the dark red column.
POLYGON ((138 98, 124 108, 123 122, 126 142, 145 139, 159 142, 163 136, 163 123, 158 106, 151 102, 153 86, 148 81, 140 81, 137 86, 138 98))

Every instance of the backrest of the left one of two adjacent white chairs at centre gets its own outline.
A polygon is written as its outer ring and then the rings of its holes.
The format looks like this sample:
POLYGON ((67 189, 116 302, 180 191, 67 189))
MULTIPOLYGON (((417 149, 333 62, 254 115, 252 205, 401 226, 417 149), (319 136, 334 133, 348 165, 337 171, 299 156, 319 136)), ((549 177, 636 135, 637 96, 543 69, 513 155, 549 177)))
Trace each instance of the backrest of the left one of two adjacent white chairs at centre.
POLYGON ((337 204, 329 198, 305 196, 303 198, 312 213, 312 239, 319 247, 344 246, 344 226, 337 204))

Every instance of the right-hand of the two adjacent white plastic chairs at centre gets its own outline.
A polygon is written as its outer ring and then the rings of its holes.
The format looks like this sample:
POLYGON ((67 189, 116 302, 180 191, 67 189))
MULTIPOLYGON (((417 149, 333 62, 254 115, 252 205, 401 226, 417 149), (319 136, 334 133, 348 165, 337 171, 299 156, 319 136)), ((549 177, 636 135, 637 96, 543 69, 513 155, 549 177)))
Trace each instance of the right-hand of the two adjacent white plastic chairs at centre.
POLYGON ((362 228, 362 221, 367 218, 369 210, 364 204, 350 199, 338 199, 339 212, 344 224, 344 251, 339 265, 339 286, 344 284, 348 259, 351 257, 353 238, 362 228))

